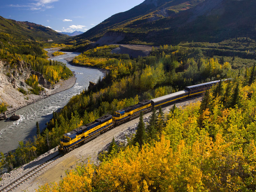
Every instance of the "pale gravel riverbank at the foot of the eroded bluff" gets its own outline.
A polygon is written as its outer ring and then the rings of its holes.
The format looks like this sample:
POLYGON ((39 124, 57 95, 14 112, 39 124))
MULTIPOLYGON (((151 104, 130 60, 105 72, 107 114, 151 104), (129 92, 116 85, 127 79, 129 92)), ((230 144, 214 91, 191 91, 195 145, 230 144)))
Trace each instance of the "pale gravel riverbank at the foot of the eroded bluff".
POLYGON ((7 103, 12 103, 12 105, 7 108, 6 115, 14 113, 20 108, 23 108, 32 103, 35 103, 38 100, 47 98, 58 92, 62 92, 67 89, 70 89, 71 87, 74 86, 75 83, 76 83, 76 76, 75 76, 75 73, 73 72, 72 77, 70 77, 67 80, 60 80, 60 82, 55 84, 54 88, 52 89, 44 88, 45 91, 41 92, 40 95, 34 95, 34 94, 23 95, 21 92, 18 92, 16 89, 12 87, 9 89, 6 89, 3 91, 1 98, 3 98, 7 103))

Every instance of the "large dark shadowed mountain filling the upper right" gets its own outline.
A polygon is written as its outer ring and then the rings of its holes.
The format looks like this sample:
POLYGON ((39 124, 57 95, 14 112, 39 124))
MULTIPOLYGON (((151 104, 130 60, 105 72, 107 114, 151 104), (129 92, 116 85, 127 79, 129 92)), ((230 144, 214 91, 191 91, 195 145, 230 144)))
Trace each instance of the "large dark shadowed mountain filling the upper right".
POLYGON ((104 37, 100 44, 108 42, 110 36, 126 44, 219 42, 239 36, 254 39, 253 7, 253 0, 146 0, 78 37, 92 41, 104 37))

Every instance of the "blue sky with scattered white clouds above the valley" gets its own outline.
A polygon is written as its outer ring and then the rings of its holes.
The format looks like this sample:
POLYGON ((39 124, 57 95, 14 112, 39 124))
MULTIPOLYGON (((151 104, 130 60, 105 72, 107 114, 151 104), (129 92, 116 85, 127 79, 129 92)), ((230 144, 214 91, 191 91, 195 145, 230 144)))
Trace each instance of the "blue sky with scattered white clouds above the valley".
POLYGON ((58 32, 87 31, 113 14, 144 0, 2 0, 0 15, 29 21, 58 32))

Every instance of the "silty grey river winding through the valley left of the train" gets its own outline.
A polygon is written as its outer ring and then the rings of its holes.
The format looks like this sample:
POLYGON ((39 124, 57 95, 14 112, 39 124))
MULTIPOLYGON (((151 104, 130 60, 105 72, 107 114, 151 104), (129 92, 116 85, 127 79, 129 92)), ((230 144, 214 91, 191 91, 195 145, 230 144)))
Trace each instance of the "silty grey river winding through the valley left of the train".
MULTIPOLYGON (((45 50, 51 52, 50 49, 45 50)), ((104 74, 98 69, 72 66, 64 60, 80 53, 64 53, 67 54, 54 57, 52 60, 66 63, 66 66, 75 72, 76 84, 66 91, 56 93, 17 110, 15 113, 21 117, 18 121, 0 121, 0 152, 6 153, 14 150, 19 146, 19 141, 32 139, 36 135, 36 122, 39 123, 42 131, 46 127, 45 124, 52 118, 52 111, 63 108, 72 96, 79 94, 85 88, 87 89, 89 81, 96 82, 100 76, 103 78, 104 74)))

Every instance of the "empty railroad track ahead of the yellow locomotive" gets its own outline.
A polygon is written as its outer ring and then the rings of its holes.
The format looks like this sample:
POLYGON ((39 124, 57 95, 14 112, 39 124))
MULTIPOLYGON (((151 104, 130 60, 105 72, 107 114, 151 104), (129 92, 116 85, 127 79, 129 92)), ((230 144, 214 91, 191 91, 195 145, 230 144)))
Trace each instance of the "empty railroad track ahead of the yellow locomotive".
POLYGON ((12 183, 10 183, 9 185, 7 185, 6 187, 0 189, 1 192, 7 192, 7 191, 12 191, 15 188, 17 188, 18 186, 20 186, 23 182, 25 182, 26 180, 28 180, 29 178, 33 177, 34 175, 36 175, 37 173, 39 173, 40 171, 42 171, 45 167, 47 167, 48 165, 52 164, 53 162, 55 162, 57 159, 59 159, 62 155, 57 154, 56 156, 52 157, 51 159, 49 159, 48 161, 44 162, 43 164, 38 165, 36 168, 32 169, 31 171, 29 171, 28 173, 22 175, 19 179, 13 181, 12 183))

